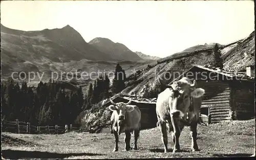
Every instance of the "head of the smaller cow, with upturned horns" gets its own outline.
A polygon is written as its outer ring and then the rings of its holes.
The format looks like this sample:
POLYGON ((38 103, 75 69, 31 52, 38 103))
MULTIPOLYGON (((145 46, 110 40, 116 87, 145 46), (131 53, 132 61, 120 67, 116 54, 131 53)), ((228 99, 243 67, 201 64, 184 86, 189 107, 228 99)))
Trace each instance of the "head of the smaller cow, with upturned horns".
POLYGON ((112 105, 109 106, 109 109, 117 112, 119 121, 125 120, 126 111, 131 112, 134 110, 134 106, 129 105, 132 102, 132 99, 130 99, 128 103, 123 103, 123 102, 115 103, 110 98, 110 102, 112 103, 112 105))

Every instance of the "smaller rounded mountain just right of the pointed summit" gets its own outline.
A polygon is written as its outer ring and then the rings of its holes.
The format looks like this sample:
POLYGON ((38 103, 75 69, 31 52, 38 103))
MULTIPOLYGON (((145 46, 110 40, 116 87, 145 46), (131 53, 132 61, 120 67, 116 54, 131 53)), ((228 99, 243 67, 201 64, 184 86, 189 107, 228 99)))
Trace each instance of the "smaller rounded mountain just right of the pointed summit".
POLYGON ((89 42, 96 49, 108 54, 118 60, 139 61, 142 60, 136 53, 132 52, 122 43, 115 43, 108 38, 97 37, 89 42))

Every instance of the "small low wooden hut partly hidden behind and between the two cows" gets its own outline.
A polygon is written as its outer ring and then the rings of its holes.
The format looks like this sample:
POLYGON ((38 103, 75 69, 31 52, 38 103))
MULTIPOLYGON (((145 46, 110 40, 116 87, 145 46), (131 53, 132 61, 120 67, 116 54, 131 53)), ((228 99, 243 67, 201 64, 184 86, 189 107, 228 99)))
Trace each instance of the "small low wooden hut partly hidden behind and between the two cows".
MULTIPOLYGON (((156 98, 148 99, 138 96, 125 96, 119 95, 112 100, 115 103, 124 102, 127 103, 132 99, 131 105, 137 105, 141 111, 141 129, 154 128, 157 124, 156 116, 156 98)), ((111 102, 106 101, 103 106, 108 107, 111 105, 111 102)))

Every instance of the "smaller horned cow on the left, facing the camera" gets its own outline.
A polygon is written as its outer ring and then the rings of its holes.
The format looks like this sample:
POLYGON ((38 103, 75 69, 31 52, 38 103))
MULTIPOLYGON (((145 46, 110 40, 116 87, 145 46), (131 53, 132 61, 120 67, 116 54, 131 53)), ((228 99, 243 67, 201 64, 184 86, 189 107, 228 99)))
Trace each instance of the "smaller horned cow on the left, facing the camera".
POLYGON ((111 128, 115 135, 115 148, 113 152, 118 151, 118 141, 119 135, 121 133, 125 133, 124 142, 125 142, 125 151, 129 151, 130 141, 131 141, 131 133, 134 132, 134 150, 137 150, 137 141, 140 133, 140 119, 141 112, 140 109, 136 105, 130 105, 132 99, 128 103, 114 103, 111 98, 110 101, 112 105, 109 106, 109 109, 112 110, 111 115, 111 128))

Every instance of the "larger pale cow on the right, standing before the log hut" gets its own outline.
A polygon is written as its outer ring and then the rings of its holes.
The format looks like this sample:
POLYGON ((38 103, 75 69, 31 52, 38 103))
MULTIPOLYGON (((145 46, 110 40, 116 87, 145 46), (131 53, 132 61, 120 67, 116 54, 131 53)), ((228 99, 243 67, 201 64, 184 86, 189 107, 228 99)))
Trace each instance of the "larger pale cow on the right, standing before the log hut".
POLYGON ((196 80, 191 81, 183 77, 174 81, 171 85, 166 85, 158 79, 165 90, 158 95, 156 102, 157 126, 161 131, 161 139, 164 145, 164 152, 167 152, 167 129, 172 131, 174 142, 173 152, 180 151, 179 136, 184 126, 190 126, 191 149, 199 151, 197 145, 197 125, 202 98, 205 91, 196 88, 196 80))

